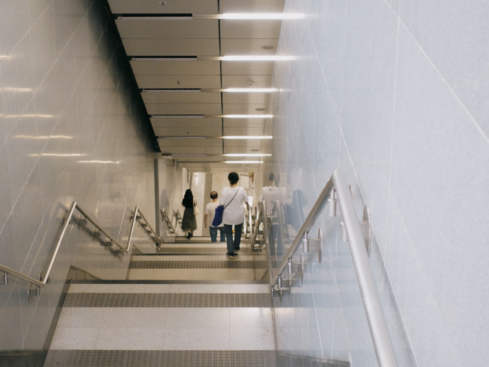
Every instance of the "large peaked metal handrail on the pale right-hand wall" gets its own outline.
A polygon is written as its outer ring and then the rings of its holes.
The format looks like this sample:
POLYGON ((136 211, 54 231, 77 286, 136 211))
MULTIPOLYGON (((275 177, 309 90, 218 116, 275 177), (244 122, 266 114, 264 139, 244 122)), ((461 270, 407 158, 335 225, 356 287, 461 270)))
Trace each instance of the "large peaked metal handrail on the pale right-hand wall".
POLYGON ((368 254, 365 251, 365 241, 356 218, 350 190, 346 184, 344 175, 340 171, 335 170, 333 172, 333 175, 319 194, 311 212, 305 219, 304 224, 301 229, 299 229, 298 235, 295 237, 289 251, 285 255, 284 260, 277 268, 277 273, 270 282, 270 289, 273 289, 278 282, 278 279, 282 276, 282 273, 288 266, 289 258, 297 251, 305 234, 309 232, 314 225, 314 222, 319 217, 320 212, 326 206, 328 202, 327 198, 333 188, 336 191, 337 201, 341 209, 343 223, 350 244, 353 265, 370 328, 370 334, 377 355, 378 365, 380 367, 396 367, 396 356, 387 329, 387 323, 382 312, 382 306, 375 285, 374 276, 370 268, 368 254))

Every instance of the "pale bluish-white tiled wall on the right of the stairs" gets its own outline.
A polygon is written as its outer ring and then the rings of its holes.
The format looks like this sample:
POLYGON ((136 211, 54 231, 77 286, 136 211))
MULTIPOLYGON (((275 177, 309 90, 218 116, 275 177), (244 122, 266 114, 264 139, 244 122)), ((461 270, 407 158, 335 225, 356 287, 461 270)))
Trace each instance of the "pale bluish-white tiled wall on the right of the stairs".
MULTIPOLYGON (((265 171, 280 173, 292 203, 294 190, 305 194, 304 213, 336 168, 359 220, 369 206, 371 266, 400 366, 487 364, 489 6, 287 0, 286 12, 305 17, 283 23, 279 53, 297 59, 275 67, 277 162, 265 171)), ((337 237, 276 302, 278 347, 375 366, 337 237)))

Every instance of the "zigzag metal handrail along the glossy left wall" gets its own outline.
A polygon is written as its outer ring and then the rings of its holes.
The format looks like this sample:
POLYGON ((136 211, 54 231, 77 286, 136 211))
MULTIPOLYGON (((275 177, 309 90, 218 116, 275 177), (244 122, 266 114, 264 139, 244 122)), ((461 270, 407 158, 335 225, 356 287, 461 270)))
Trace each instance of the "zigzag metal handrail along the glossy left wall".
MULTIPOLYGON (((76 202, 73 202, 71 204, 70 208, 68 209, 68 216, 67 217, 65 217, 65 216, 63 217, 63 221, 64 221, 63 222, 63 229, 61 230, 60 237, 59 237, 58 241, 56 242, 56 246, 54 247, 54 251, 51 254, 51 258, 49 259, 49 262, 48 262, 48 265, 46 267, 46 271, 45 271, 44 275, 41 275, 42 274, 42 272, 41 272, 40 275, 39 275, 39 279, 36 279, 36 278, 33 278, 32 276, 25 275, 25 274, 22 274, 22 273, 20 273, 20 272, 18 272, 16 270, 13 270, 13 269, 5 266, 5 265, 0 265, 0 271, 5 272, 8 275, 12 275, 12 276, 14 276, 14 277, 16 277, 18 279, 23 280, 23 281, 26 281, 26 282, 28 282, 30 284, 34 284, 37 287, 42 287, 42 286, 46 285, 49 282, 49 274, 51 273, 51 269, 53 267, 54 260, 56 259, 56 255, 58 254, 58 251, 59 251, 59 249, 61 247, 61 242, 63 241, 63 238, 65 236, 65 233, 66 233, 66 230, 68 228, 68 225, 71 222, 71 218, 73 217, 73 212, 74 212, 75 208, 83 216, 85 216, 85 218, 89 222, 91 222, 100 232, 104 233, 123 252, 129 252, 130 249, 131 249, 131 240, 132 240, 132 237, 133 237, 134 223, 136 221, 136 216, 137 216, 137 213, 138 212, 141 215, 141 218, 143 218, 144 221, 146 222, 146 224, 148 224, 148 226, 149 226, 149 223, 146 221, 146 218, 144 218, 144 215, 141 213, 141 211, 136 206, 136 208, 134 209, 134 217, 132 218, 131 232, 129 234, 127 248, 126 248, 126 247, 122 246, 117 240, 115 240, 105 229, 103 229, 92 217, 90 217, 80 206, 78 206, 76 204, 76 202)), ((151 228, 151 226, 149 226, 149 227, 152 230, 152 232, 156 235, 156 232, 151 228)), ((156 238, 157 238, 157 236, 156 236, 156 238)), ((5 278, 6 278, 6 274, 5 274, 5 278)))

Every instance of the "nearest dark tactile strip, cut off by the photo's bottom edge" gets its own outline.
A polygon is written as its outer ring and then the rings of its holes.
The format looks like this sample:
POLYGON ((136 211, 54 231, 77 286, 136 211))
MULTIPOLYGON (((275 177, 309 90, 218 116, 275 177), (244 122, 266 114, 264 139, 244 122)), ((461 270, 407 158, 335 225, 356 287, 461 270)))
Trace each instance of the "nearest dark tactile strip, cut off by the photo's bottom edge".
POLYGON ((51 350, 44 367, 276 367, 274 350, 51 350))

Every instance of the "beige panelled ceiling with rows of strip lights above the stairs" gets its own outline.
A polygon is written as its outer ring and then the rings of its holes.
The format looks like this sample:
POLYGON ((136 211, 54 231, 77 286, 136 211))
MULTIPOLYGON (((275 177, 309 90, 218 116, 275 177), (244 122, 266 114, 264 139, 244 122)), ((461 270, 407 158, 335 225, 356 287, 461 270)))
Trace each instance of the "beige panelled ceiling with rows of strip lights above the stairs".
POLYGON ((263 161, 269 144, 251 137, 264 136, 270 91, 257 90, 270 88, 281 19, 253 18, 284 2, 108 0, 163 159, 193 171, 263 161))

